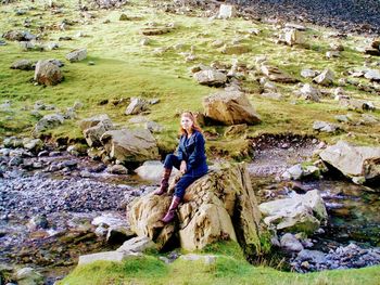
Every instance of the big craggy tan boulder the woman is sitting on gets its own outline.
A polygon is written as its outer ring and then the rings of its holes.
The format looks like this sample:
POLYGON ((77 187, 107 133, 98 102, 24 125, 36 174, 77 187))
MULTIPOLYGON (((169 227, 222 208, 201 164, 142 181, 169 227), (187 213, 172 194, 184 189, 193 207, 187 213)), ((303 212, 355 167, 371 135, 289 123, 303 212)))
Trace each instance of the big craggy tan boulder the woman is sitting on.
MULTIPOLYGON (((174 224, 161 218, 170 196, 147 195, 129 205, 128 220, 139 236, 148 236, 162 247, 174 235, 174 224)), ((217 241, 238 241, 246 252, 263 250, 261 215, 244 165, 215 166, 186 191, 178 209, 179 242, 195 250, 217 241)))

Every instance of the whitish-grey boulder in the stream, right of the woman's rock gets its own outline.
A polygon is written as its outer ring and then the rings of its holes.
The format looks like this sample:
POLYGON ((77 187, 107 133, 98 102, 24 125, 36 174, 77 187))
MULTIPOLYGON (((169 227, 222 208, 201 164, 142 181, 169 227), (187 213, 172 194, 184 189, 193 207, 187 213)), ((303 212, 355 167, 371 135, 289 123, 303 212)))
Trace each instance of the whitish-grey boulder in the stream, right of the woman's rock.
POLYGON ((291 198, 276 199, 259 206, 264 222, 278 231, 313 234, 327 220, 327 211, 318 190, 291 198))

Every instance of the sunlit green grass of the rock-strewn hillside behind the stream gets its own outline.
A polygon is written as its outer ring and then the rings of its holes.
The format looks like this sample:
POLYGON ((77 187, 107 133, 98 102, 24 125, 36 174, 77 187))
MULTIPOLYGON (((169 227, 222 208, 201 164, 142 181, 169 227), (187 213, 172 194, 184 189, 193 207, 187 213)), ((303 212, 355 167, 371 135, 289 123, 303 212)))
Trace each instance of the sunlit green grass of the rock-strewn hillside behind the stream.
MULTIPOLYGON (((84 21, 79 12, 74 10, 77 1, 66 0, 63 2, 64 14, 52 14, 49 10, 43 10, 40 3, 34 4, 37 10, 29 10, 27 17, 31 20, 30 31, 37 34, 40 25, 59 25, 63 18, 71 21, 84 21)), ((0 7, 0 33, 9 29, 22 29, 23 20, 26 16, 15 16, 17 9, 29 7, 29 2, 20 1, 16 3, 0 7)), ((218 89, 199 86, 189 73, 189 68, 195 64, 210 64, 214 61, 231 64, 233 59, 245 62, 249 66, 254 66, 254 57, 267 55, 268 62, 279 66, 282 70, 299 78, 303 82, 311 82, 309 79, 301 78, 300 72, 303 68, 325 69, 331 68, 337 78, 342 76, 351 67, 360 67, 365 62, 364 54, 354 50, 354 47, 363 37, 350 36, 341 40, 345 51, 338 60, 327 60, 325 52, 329 49, 331 41, 324 37, 326 29, 313 27, 305 33, 306 41, 311 48, 287 47, 275 44, 276 39, 273 26, 266 24, 253 24, 242 18, 229 21, 210 21, 205 17, 191 17, 186 15, 168 14, 155 11, 147 5, 145 1, 132 1, 131 4, 123 9, 124 13, 130 16, 141 16, 139 21, 118 21, 122 11, 90 11, 96 17, 85 24, 68 26, 66 30, 48 29, 43 41, 56 41, 61 36, 72 36, 73 41, 60 41, 61 48, 47 52, 22 52, 16 42, 9 42, 5 47, 0 47, 0 103, 5 100, 12 101, 11 113, 0 111, 0 138, 17 134, 29 137, 33 126, 37 119, 30 115, 30 108, 36 101, 42 100, 47 104, 54 104, 58 111, 64 111, 73 106, 79 100, 85 107, 78 112, 78 119, 96 114, 106 113, 118 126, 129 126, 130 117, 124 115, 126 104, 114 106, 109 103, 100 105, 103 100, 110 102, 115 99, 128 99, 131 96, 142 96, 145 99, 157 98, 160 103, 152 105, 149 119, 155 120, 165 127, 162 134, 156 135, 161 140, 161 150, 170 151, 175 146, 176 131, 178 128, 178 114, 185 109, 203 111, 202 100, 205 95, 215 93, 218 89), (104 24, 105 20, 111 23, 104 24), (177 28, 172 33, 161 36, 151 36, 152 42, 147 47, 140 46, 140 40, 144 38, 140 34, 145 24, 156 22, 164 26, 167 23, 176 23, 177 28), (250 28, 262 30, 258 36, 248 36, 250 28), (86 37, 77 38, 78 31, 86 37), (220 49, 212 48, 212 42, 221 39, 226 43, 239 39, 242 44, 251 48, 250 53, 241 55, 227 55, 220 49), (179 50, 168 49, 162 55, 156 55, 153 50, 156 48, 168 48, 177 43, 183 47, 179 50), (75 48, 86 47, 88 59, 80 63, 71 64, 65 61, 65 54, 75 48), (186 62, 180 52, 190 52, 191 47, 199 60, 186 62), (33 72, 21 72, 10 69, 9 66, 20 59, 58 59, 65 63, 62 68, 65 80, 55 87, 34 86, 30 79, 33 72), (93 66, 88 62, 94 62, 93 66), (28 109, 21 111, 22 107, 28 109)), ((195 12, 197 13, 197 12, 195 12)), ((360 79, 366 82, 366 80, 360 79)), ((337 80, 338 81, 338 80, 337 80)), ((314 120, 327 120, 334 122, 333 116, 337 114, 352 113, 356 117, 359 114, 347 112, 331 99, 324 99, 321 103, 308 103, 294 96, 297 88, 294 85, 278 83, 279 92, 284 95, 283 101, 263 99, 258 94, 258 83, 252 78, 243 82, 251 103, 262 116, 263 122, 249 127, 249 135, 259 133, 281 133, 294 132, 301 134, 315 134, 327 142, 335 142, 340 139, 359 144, 376 145, 380 141, 380 127, 372 126, 350 126, 345 125, 345 131, 338 134, 318 134, 312 130, 314 120), (347 135, 347 133, 354 135, 347 135), (370 135, 367 135, 370 133, 370 135)), ((332 90, 332 89, 331 89, 332 90)), ((366 99, 380 105, 380 98, 370 93, 357 90, 349 86, 345 90, 353 98, 366 99)), ((41 112, 41 115, 51 112, 41 112)), ((371 113, 380 119, 380 112, 371 113)), ((77 120, 67 120, 63 126, 48 132, 53 139, 65 138, 69 142, 80 141, 83 134, 75 130, 77 120)), ((208 127, 213 129, 214 127, 208 127)), ((207 129, 207 128, 206 128, 207 129)), ((223 134, 225 128, 218 128, 223 134)), ((217 142, 216 151, 221 147, 231 157, 241 158, 241 153, 245 152, 245 144, 240 138, 226 140, 223 135, 217 142), (236 145, 230 147, 229 145, 236 145)), ((215 148, 214 147, 214 148, 215 148)), ((213 148, 213 147, 211 147, 213 148)), ((223 152, 221 152, 223 153, 223 152)))

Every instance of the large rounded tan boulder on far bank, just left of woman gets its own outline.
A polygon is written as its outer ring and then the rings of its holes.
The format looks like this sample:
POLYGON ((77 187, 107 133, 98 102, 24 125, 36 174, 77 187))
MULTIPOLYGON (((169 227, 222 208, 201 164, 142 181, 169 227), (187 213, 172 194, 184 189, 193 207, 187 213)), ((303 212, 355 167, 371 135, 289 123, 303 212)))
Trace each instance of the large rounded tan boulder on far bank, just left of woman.
POLYGON ((121 163, 142 163, 159 158, 155 139, 144 129, 106 131, 100 141, 110 157, 121 163))

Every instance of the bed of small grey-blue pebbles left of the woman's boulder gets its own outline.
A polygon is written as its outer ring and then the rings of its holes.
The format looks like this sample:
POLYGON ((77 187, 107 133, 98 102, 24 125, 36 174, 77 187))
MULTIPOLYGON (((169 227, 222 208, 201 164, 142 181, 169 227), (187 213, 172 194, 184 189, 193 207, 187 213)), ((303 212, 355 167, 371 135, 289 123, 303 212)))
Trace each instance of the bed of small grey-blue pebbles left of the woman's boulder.
POLYGON ((55 211, 122 210, 130 193, 127 185, 69 178, 25 177, 3 180, 0 185, 0 211, 17 215, 55 211))

